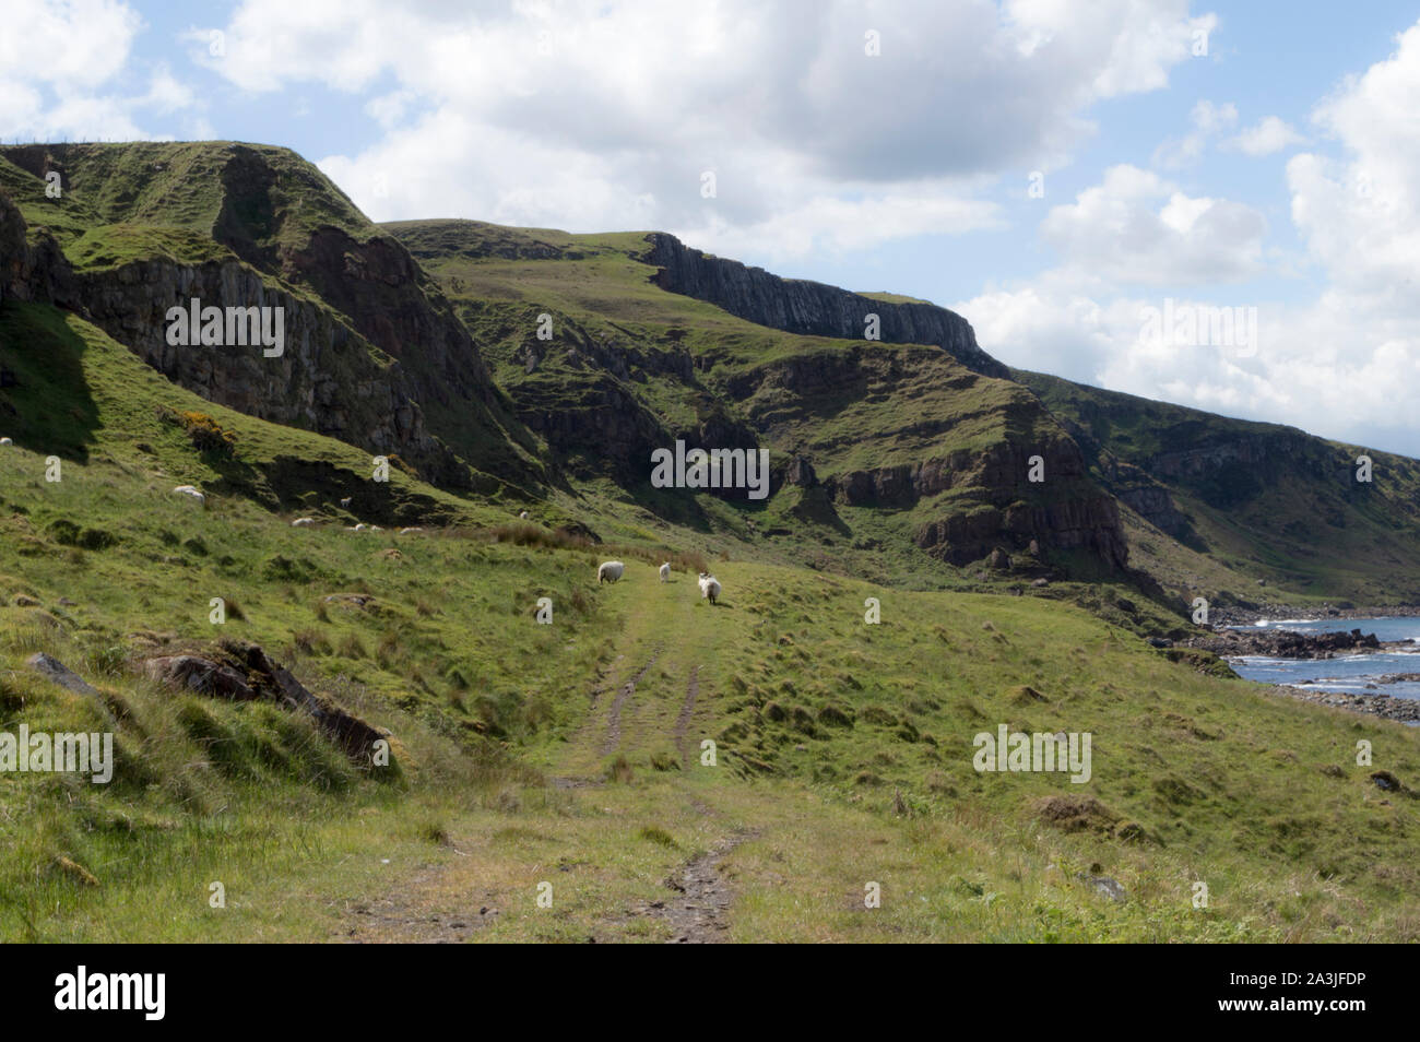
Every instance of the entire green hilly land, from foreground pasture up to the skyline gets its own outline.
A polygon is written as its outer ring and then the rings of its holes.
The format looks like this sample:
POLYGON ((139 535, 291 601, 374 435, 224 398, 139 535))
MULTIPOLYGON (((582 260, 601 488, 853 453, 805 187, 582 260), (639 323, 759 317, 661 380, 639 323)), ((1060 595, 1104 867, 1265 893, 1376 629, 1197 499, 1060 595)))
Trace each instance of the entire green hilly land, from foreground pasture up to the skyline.
POLYGON ((1420 937, 1420 734, 1145 639, 1200 586, 1402 596, 1413 461, 1348 491, 1299 432, 757 325, 642 233, 372 226, 280 149, 6 148, 0 192, 0 733, 116 747, 0 772, 0 938, 1420 937), (214 271, 310 308, 293 386, 399 392, 427 453, 375 481, 368 430, 151 351, 153 287, 214 271), (676 437, 764 444, 772 495, 650 488, 676 437), (250 645, 392 767, 152 671, 250 645), (1089 779, 977 771, 1001 725, 1088 733, 1089 779))

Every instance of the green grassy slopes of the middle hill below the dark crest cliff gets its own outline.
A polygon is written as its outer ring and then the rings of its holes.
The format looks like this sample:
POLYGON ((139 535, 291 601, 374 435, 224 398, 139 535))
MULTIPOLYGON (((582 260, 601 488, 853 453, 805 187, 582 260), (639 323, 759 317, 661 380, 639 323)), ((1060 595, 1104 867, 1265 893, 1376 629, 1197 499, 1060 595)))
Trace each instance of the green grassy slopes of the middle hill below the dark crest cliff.
MULTIPOLYGON (((799 336, 666 292, 650 283, 655 270, 638 260, 646 233, 569 234, 466 220, 382 227, 439 278, 500 385, 525 407, 557 412, 599 402, 606 372, 561 351, 567 342, 594 341, 630 358, 633 375, 621 386, 650 422, 667 432, 694 430, 714 416, 751 424, 764 432, 775 459, 808 453, 821 480, 1062 437, 1027 390, 978 376, 936 348, 799 336), (540 314, 552 315, 554 342, 542 345, 545 355, 530 372, 525 358, 540 346, 540 314), (676 355, 690 356, 690 379, 662 361, 676 355), (733 403, 728 389, 770 366, 798 361, 815 368, 841 358, 859 359, 863 373, 862 386, 841 400, 790 393, 770 380, 733 403)), ((636 511, 625 493, 601 491, 636 511)), ((650 501, 656 493, 639 488, 636 498, 650 501)), ((912 510, 834 507, 821 493, 805 497, 798 488, 764 504, 706 500, 693 518, 680 520, 763 559, 910 585, 974 582, 914 542, 924 522, 980 500, 970 478, 912 510)))

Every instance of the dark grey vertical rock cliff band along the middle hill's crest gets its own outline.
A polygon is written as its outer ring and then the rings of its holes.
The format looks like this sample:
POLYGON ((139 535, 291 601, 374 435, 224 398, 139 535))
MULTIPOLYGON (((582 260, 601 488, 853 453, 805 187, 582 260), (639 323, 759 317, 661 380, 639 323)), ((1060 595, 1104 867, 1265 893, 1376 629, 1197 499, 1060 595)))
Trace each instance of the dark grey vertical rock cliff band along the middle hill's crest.
POLYGON ((662 290, 707 301, 758 325, 785 332, 863 339, 866 317, 876 314, 885 344, 930 344, 985 376, 1010 371, 981 351, 971 324, 932 304, 888 304, 822 283, 780 278, 764 268, 709 257, 674 236, 652 233, 642 258, 659 268, 662 290))

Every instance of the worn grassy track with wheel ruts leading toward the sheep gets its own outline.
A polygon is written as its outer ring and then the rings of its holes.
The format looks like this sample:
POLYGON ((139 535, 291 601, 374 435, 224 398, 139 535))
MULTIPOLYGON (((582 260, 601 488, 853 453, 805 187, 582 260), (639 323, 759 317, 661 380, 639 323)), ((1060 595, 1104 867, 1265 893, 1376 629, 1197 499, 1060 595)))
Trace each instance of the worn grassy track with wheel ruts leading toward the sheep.
POLYGON ((348 938, 724 937, 734 892, 721 869, 755 830, 717 808, 697 724, 734 609, 711 609, 693 576, 660 583, 639 562, 609 592, 625 612, 622 636, 585 721, 548 768, 550 815, 501 829, 486 815, 459 821, 453 856, 354 909, 348 938), (551 907, 538 904, 540 884, 551 884, 551 907))

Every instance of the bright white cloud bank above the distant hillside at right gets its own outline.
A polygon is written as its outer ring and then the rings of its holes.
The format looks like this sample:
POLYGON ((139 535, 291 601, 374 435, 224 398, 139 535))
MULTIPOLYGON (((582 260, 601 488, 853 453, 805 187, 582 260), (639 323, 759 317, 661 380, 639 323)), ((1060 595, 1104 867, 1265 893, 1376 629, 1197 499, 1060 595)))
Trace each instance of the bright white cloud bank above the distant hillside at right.
MULTIPOLYGON (((1417 111, 1420 26, 1397 38, 1390 57, 1316 106, 1314 121, 1342 155, 1308 152, 1287 165, 1292 220, 1306 260, 1326 281, 1314 302, 1289 307, 1217 290, 1176 301, 1176 307, 1255 307, 1255 352, 1140 336, 1143 308, 1160 308, 1163 301, 1119 288, 1159 284, 1159 275, 1180 264, 1187 270, 1183 254, 1190 250, 1201 251, 1197 267, 1208 270, 1207 244, 1187 240, 1208 238, 1217 229, 1208 224, 1213 200, 1170 193, 1162 180, 1133 168, 1115 168, 1074 206, 1051 212, 1047 237, 1064 250, 1062 267, 1030 285, 953 307, 977 327, 988 351, 1012 365, 1420 456, 1417 111), (1164 193, 1169 203, 1154 212, 1164 193), (1157 247, 1169 241, 1174 246, 1166 253, 1180 256, 1160 258, 1157 247), (1091 271, 1105 277, 1091 284, 1091 271), (1149 278, 1130 278, 1132 271, 1149 278)), ((1257 220, 1235 213, 1221 224, 1252 244, 1258 238, 1244 230, 1257 220)), ((1225 265, 1214 270, 1224 273, 1225 265)))

